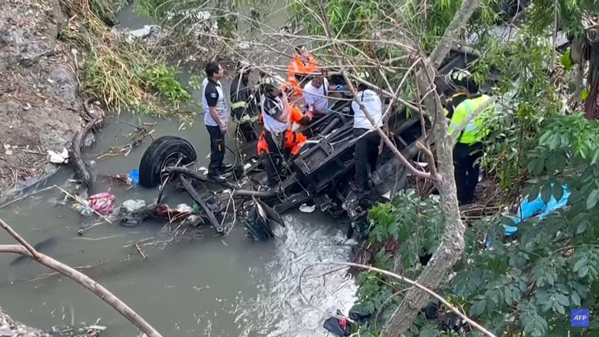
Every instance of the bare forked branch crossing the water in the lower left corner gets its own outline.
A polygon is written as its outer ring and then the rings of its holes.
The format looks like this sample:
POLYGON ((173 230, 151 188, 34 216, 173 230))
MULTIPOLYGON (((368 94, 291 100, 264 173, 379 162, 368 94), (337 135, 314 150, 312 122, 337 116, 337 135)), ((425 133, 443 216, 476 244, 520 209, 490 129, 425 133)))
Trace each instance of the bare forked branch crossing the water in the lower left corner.
POLYGON ((137 312, 133 311, 133 309, 129 308, 125 302, 114 296, 114 294, 108 291, 107 288, 102 287, 102 285, 89 278, 89 276, 85 275, 84 273, 81 273, 64 263, 53 259, 52 257, 36 251, 25 239, 23 239, 23 237, 21 237, 16 231, 13 230, 13 228, 11 228, 1 219, 0 226, 20 243, 20 245, 0 245, 0 252, 11 252, 14 254, 26 255, 34 258, 44 266, 56 270, 56 272, 59 272, 62 275, 68 276, 73 281, 92 291, 92 293, 96 294, 98 297, 104 300, 104 302, 108 303, 108 305, 112 306, 121 315, 131 321, 131 323, 135 324, 135 326, 137 326, 138 329, 144 332, 148 337, 162 337, 162 335, 156 331, 156 329, 150 326, 146 320, 141 318, 141 316, 138 315, 137 312))

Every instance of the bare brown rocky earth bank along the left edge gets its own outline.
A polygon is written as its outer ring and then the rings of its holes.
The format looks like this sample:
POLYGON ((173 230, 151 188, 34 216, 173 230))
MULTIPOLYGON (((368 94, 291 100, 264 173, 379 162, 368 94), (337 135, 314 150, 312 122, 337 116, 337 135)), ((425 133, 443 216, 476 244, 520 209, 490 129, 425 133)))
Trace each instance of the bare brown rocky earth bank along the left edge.
POLYGON ((46 151, 81 127, 66 20, 59 0, 0 0, 0 197, 56 171, 46 151))

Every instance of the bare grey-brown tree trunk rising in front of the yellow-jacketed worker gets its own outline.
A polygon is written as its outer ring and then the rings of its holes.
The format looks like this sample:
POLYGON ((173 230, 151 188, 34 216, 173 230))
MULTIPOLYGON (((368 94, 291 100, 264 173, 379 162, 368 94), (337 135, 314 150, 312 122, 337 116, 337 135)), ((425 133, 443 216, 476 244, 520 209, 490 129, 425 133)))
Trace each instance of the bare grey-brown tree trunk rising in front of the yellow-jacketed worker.
MULTIPOLYGON (((425 88, 422 90, 423 92, 428 92, 428 89, 431 88, 432 79, 435 78, 435 69, 447 56, 479 4, 480 0, 465 0, 462 3, 438 46, 435 47, 431 56, 422 62, 422 67, 416 74, 416 81, 419 88, 425 88)), ((441 176, 441 179, 437 180, 435 185, 441 197, 441 212, 446 223, 437 251, 434 252, 431 261, 422 270, 416 282, 427 288, 435 289, 443 279, 442 276, 446 275, 453 264, 461 257, 464 251, 466 227, 461 220, 458 208, 458 196, 453 173, 453 140, 447 131, 443 106, 435 91, 426 95, 423 103, 426 111, 435 121, 431 132, 435 142, 435 151, 437 152, 437 172, 441 176)), ((403 302, 383 329, 381 337, 397 337, 409 330, 412 321, 418 315, 420 308, 425 305, 428 297, 429 294, 418 288, 407 291, 403 302)))

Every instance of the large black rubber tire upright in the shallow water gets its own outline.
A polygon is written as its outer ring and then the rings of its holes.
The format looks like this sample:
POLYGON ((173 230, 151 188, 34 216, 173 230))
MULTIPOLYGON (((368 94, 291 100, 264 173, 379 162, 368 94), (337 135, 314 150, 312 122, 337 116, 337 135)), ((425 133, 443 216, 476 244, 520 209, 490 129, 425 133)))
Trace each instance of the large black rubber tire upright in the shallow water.
POLYGON ((147 188, 160 185, 162 170, 169 164, 176 164, 180 157, 180 165, 193 163, 197 158, 195 149, 187 140, 175 136, 156 139, 141 157, 140 185, 147 188))

